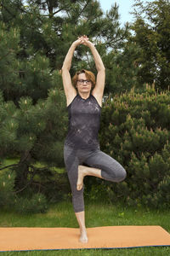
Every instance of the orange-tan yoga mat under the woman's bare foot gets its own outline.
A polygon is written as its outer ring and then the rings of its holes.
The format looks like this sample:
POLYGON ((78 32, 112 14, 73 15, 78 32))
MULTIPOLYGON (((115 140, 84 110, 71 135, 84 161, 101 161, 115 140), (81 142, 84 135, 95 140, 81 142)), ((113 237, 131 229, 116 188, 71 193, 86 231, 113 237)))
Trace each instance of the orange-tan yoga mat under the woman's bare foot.
POLYGON ((82 244, 78 229, 0 228, 0 252, 170 246, 170 234, 161 226, 105 226, 87 231, 88 243, 82 244))

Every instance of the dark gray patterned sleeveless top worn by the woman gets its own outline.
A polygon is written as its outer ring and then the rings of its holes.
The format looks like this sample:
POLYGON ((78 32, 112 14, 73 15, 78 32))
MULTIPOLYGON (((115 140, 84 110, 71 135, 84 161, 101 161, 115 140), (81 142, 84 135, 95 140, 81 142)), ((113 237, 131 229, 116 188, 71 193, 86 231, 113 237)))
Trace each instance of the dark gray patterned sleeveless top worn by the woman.
POLYGON ((90 94, 85 100, 77 94, 67 109, 69 131, 65 145, 71 148, 99 148, 101 107, 95 97, 90 94))

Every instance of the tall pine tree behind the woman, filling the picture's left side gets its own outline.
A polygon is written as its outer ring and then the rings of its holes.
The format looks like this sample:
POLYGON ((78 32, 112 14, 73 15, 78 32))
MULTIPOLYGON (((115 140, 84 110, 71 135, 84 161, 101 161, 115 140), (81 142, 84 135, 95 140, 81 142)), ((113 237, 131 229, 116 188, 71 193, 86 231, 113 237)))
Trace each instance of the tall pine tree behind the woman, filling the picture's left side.
MULTIPOLYGON (((17 157, 15 190, 32 194, 53 177, 51 166, 64 166, 67 115, 59 70, 71 43, 87 34, 103 58, 122 47, 127 27, 119 27, 116 5, 105 15, 93 0, 7 0, 0 7, 0 157, 17 157)), ((96 72, 83 45, 71 74, 82 67, 96 72)))

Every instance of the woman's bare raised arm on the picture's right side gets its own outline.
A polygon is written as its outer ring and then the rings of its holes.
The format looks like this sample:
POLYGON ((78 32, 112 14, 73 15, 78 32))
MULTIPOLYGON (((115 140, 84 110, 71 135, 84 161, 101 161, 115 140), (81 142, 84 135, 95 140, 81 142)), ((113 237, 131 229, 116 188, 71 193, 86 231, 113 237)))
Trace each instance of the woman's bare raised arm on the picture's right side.
POLYGON ((82 44, 87 45, 91 50, 92 54, 94 55, 94 62, 98 74, 96 79, 96 85, 94 87, 94 90, 92 91, 92 95, 97 99, 99 105, 101 106, 102 97, 105 89, 105 66, 103 64, 103 61, 101 60, 99 52, 97 51, 97 49, 95 49, 94 44, 88 41, 88 38, 84 38, 82 44))

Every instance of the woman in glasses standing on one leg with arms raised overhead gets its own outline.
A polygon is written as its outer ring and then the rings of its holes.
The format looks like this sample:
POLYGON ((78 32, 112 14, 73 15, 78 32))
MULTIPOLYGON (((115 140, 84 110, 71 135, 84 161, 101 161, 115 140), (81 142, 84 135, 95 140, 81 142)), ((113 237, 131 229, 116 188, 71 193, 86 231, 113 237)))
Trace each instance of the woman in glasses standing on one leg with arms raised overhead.
POLYGON ((72 202, 80 227, 81 242, 88 242, 83 201, 83 178, 87 175, 121 182, 126 177, 123 167, 99 149, 98 131, 105 87, 105 67, 94 44, 86 36, 71 44, 62 67, 62 79, 69 112, 69 131, 65 139, 65 167, 71 183, 72 202), (97 68, 94 73, 82 70, 71 82, 71 60, 78 45, 89 47, 97 68), (86 166, 84 166, 86 165, 86 166))

